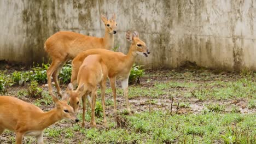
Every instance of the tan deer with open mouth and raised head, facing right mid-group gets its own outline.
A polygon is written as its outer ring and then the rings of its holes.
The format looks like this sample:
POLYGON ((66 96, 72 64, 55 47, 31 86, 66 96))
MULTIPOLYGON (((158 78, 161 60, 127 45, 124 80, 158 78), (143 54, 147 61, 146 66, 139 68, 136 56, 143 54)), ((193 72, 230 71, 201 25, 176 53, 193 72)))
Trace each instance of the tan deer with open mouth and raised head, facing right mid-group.
POLYGON ((79 53, 72 61, 71 83, 74 84, 75 80, 77 80, 79 67, 82 65, 85 57, 95 54, 101 55, 101 58, 108 69, 108 77, 114 97, 114 112, 117 113, 115 80, 118 78, 121 80, 121 85, 124 89, 127 111, 131 114, 128 100, 128 79, 130 71, 137 55, 148 57, 149 50, 146 44, 139 39, 138 32, 136 31, 133 33, 127 31, 126 39, 131 41, 131 46, 127 55, 124 55, 124 53, 121 52, 113 52, 103 49, 93 49, 79 53))

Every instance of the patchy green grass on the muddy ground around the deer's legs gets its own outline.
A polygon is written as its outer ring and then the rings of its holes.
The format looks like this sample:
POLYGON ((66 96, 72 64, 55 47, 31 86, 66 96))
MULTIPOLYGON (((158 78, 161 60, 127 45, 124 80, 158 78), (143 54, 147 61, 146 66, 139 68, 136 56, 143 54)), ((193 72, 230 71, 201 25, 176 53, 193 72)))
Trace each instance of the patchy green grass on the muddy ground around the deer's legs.
MULTIPOLYGON (((21 73, 22 74, 22 73, 21 73)), ((18 82, 19 73, 15 74, 18 82)), ((255 143, 256 142, 256 75, 247 70, 240 74, 214 74, 207 70, 168 71, 144 75, 141 85, 129 87, 129 98, 143 103, 132 104, 143 111, 127 115, 123 90, 117 89, 119 116, 125 119, 126 127, 120 128, 113 115, 113 98, 110 88, 106 89, 106 110, 108 128, 102 128, 102 107, 100 89, 96 101, 96 123, 98 128, 81 128, 81 122, 71 124, 62 120, 45 129, 45 143, 255 143), (165 79, 165 78, 168 79, 165 79), (172 111, 177 104, 181 110, 193 110, 195 104, 202 105, 202 111, 186 114, 170 114, 170 107, 162 109, 161 100, 174 98, 172 111), (232 103, 232 101, 238 101, 232 103), (221 102, 220 102, 221 101, 221 102), (228 102, 227 102, 228 101, 228 102), (225 102, 222 104, 222 102, 225 102), (151 104, 150 112, 148 107, 151 104), (251 110, 242 114, 240 110, 251 110), (160 108, 159 108, 160 107, 160 108), (166 108, 166 109, 165 109, 166 108)), ((17 92, 18 97, 27 97, 25 90, 17 92)), ((165 101, 164 101, 165 102, 165 101)), ((51 96, 43 91, 42 98, 33 103, 40 107, 53 107, 51 96)), ((80 107, 82 109, 82 107, 80 107)), ((91 110, 87 109, 86 124, 89 125, 91 110)), ((78 114, 82 121, 82 111, 78 114)), ((15 134, 5 131, 8 143, 15 142, 15 134)), ((25 143, 35 139, 25 138, 25 143)), ((1 143, 1 139, 0 139, 1 143)))

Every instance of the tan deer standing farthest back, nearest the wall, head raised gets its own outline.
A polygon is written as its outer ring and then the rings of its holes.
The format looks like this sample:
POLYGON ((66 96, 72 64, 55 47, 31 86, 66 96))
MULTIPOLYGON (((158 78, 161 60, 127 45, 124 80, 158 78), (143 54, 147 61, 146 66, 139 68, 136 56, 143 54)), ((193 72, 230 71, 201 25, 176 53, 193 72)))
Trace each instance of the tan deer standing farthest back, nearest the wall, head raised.
POLYGON ((110 20, 101 15, 101 20, 105 25, 105 35, 103 38, 62 31, 51 35, 51 37, 45 41, 44 49, 52 59, 52 63, 47 70, 49 92, 53 92, 51 87, 51 76, 53 75, 57 93, 61 95, 60 85, 57 79, 59 71, 63 64, 76 57, 79 52, 95 48, 107 50, 113 48, 113 34, 117 33, 117 22, 115 22, 115 19, 115 14, 113 14, 110 20))

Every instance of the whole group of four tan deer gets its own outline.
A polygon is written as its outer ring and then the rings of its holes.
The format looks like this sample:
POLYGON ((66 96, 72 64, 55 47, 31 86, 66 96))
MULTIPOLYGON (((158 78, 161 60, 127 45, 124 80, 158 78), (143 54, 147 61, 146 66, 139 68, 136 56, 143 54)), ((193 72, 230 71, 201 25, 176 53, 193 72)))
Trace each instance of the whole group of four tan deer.
POLYGON ((97 96, 97 85, 101 89, 101 102, 103 109, 103 124, 107 126, 105 114, 105 89, 107 77, 110 81, 114 99, 114 113, 117 113, 116 104, 116 80, 121 80, 127 111, 131 114, 128 99, 128 79, 133 63, 137 55, 147 57, 149 50, 146 44, 139 39, 138 32, 126 32, 126 39, 131 42, 127 55, 121 52, 113 52, 114 34, 117 33, 117 22, 115 14, 111 19, 101 15, 105 25, 103 38, 90 37, 74 32, 61 31, 51 35, 44 44, 45 51, 52 59, 47 70, 48 89, 56 107, 44 112, 39 107, 26 103, 18 98, 10 96, 0 97, 0 135, 4 129, 16 133, 16 143, 22 143, 24 136, 34 136, 37 143, 43 142, 43 130, 61 119, 70 122, 79 122, 76 114, 79 109, 80 99, 83 103, 83 122, 85 126, 86 99, 91 106, 91 127, 95 123, 95 99, 97 96), (67 90, 61 92, 58 83, 59 72, 67 61, 72 60, 71 83, 67 90), (53 93, 51 86, 53 77, 59 100, 53 93), (77 85, 77 89, 74 87, 77 85), (68 102, 70 104, 68 104, 68 102))

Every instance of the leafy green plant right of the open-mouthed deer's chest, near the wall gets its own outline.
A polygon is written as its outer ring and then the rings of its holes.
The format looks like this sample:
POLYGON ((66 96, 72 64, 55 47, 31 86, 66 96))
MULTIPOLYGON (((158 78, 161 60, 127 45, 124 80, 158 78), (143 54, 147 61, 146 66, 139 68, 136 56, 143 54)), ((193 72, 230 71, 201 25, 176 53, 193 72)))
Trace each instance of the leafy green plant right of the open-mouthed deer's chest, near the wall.
POLYGON ((144 69, 142 67, 142 65, 133 64, 129 76, 129 84, 139 84, 141 82, 141 77, 144 75, 144 69))

